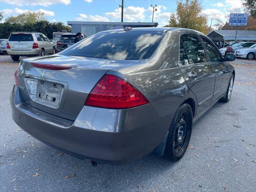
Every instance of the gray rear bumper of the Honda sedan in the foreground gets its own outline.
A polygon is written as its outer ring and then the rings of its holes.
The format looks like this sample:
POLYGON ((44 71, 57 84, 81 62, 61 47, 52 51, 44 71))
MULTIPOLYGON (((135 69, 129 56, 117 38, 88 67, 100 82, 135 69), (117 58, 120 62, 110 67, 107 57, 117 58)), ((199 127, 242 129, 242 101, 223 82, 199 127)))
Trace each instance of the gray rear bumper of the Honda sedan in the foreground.
POLYGON ((156 150, 168 132, 170 119, 151 104, 126 110, 84 106, 70 121, 23 102, 19 88, 10 96, 12 118, 38 140, 78 158, 124 164, 156 150))

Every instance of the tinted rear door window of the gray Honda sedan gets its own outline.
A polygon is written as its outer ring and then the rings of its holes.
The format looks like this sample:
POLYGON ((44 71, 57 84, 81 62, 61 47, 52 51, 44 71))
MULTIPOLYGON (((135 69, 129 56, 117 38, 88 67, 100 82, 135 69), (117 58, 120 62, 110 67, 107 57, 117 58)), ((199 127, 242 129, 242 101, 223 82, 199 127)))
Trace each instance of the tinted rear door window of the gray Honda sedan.
POLYGON ((180 39, 188 54, 188 61, 190 64, 207 62, 204 48, 196 34, 184 34, 180 39))

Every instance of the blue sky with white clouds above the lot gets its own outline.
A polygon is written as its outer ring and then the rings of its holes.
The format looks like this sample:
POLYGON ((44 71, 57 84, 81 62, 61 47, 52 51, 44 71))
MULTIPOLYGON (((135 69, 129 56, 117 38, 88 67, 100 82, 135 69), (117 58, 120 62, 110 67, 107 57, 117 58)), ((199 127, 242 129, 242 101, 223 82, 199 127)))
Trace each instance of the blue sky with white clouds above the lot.
MULTIPOLYGON (((154 22, 168 24, 170 13, 176 10, 175 0, 125 0, 125 22, 151 22, 152 8, 157 4, 154 22)), ((241 0, 202 0, 203 13, 210 18, 218 13, 223 21, 228 9, 241 7, 241 0)), ((4 18, 27 10, 44 12, 50 22, 67 21, 121 21, 121 0, 0 0, 0 12, 4 18)), ((213 20, 214 24, 214 20, 213 20)))

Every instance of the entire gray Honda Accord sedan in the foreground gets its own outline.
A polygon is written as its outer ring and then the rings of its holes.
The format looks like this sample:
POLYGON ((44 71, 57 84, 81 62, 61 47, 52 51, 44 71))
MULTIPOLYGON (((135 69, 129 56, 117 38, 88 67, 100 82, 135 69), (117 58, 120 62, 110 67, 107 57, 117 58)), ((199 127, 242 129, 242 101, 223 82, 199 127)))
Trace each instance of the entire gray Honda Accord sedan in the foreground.
POLYGON ((23 59, 12 118, 38 140, 93 162, 123 164, 152 152, 177 161, 192 124, 230 100, 234 59, 194 30, 99 32, 58 54, 23 59))

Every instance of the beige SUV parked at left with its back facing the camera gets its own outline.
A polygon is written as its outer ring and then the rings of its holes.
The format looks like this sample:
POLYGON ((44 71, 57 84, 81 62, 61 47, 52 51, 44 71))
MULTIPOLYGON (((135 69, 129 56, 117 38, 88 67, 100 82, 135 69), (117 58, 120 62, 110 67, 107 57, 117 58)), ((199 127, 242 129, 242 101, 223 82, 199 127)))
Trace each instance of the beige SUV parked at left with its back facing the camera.
POLYGON ((20 56, 55 54, 55 49, 54 44, 39 32, 12 32, 7 42, 7 53, 14 61, 20 56))

